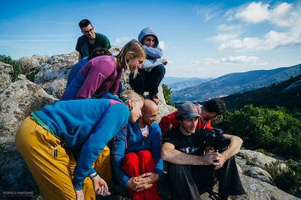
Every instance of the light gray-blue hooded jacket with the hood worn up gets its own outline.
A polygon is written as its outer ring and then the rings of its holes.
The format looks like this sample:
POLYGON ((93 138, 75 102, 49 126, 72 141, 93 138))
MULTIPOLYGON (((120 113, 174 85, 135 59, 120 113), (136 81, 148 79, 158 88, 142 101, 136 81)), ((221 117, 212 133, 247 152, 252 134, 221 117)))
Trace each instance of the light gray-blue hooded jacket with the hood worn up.
POLYGON ((138 41, 143 45, 147 55, 146 59, 144 60, 144 63, 142 64, 141 69, 147 69, 148 71, 151 71, 151 69, 153 69, 155 66, 164 63, 164 59, 161 59, 163 55, 163 50, 160 48, 158 36, 151 27, 146 27, 140 32, 138 36, 138 41), (155 36, 155 45, 153 45, 153 48, 148 48, 142 43, 142 39, 145 36, 149 35, 155 36))

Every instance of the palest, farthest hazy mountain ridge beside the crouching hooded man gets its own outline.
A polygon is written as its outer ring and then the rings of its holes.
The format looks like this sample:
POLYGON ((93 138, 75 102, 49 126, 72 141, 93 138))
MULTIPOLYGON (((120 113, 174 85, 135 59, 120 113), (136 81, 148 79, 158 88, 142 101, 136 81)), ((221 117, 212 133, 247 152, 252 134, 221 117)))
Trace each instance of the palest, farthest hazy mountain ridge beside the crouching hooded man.
POLYGON ((213 78, 178 78, 178 77, 165 77, 162 82, 165 85, 168 85, 172 91, 181 90, 186 87, 193 87, 195 85, 200 85, 213 78))

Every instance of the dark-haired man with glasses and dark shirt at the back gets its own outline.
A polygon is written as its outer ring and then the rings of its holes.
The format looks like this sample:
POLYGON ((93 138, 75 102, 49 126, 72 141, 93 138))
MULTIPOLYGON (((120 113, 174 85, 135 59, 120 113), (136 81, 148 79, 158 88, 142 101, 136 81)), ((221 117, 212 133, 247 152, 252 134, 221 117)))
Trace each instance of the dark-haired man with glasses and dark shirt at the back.
POLYGON ((111 48, 109 38, 104 34, 95 33, 94 27, 89 20, 81 20, 78 26, 83 34, 76 43, 76 50, 79 52, 78 61, 83 59, 83 57, 88 57, 94 48, 105 48, 107 50, 111 48))

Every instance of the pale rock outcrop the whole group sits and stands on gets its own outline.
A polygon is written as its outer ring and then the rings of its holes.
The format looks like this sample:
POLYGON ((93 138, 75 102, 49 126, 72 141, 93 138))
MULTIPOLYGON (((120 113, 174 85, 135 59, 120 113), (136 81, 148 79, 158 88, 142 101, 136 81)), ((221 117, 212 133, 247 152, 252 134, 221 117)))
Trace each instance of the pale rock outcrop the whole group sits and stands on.
MULTIPOLYGON (((118 47, 112 47, 113 55, 120 51, 118 47)), ((71 52, 64 55, 53 55, 47 60, 41 61, 41 57, 35 56, 22 58, 31 60, 21 64, 25 73, 39 69, 34 78, 34 83, 29 80, 18 80, 12 83, 9 74, 13 68, 8 64, 0 63, 0 190, 3 192, 33 192, 31 199, 41 199, 38 187, 32 178, 27 165, 15 149, 15 133, 22 121, 34 110, 40 110, 43 106, 56 103, 64 92, 66 77, 71 66, 77 62, 78 55, 71 52), (38 59, 34 61, 34 59, 38 59), (36 63, 41 64, 37 66, 36 63), (25 67, 26 66, 26 67, 25 67)), ((122 77, 123 90, 131 89, 128 84, 128 71, 122 77)), ((159 88, 159 115, 161 117, 172 113, 176 108, 167 106, 162 94, 162 87, 159 88)), ((241 182, 246 190, 246 195, 232 196, 230 199, 297 199, 287 194, 273 185, 273 180, 269 174, 262 169, 265 163, 270 163, 279 158, 272 158, 258 152, 240 150, 237 155, 239 163, 241 182), (249 164, 252 160, 256 166, 249 164)), ((217 186, 215 187, 217 190, 217 186)), ((111 189, 111 196, 104 199, 130 199, 124 188, 116 184, 111 189)), ((165 175, 158 183, 158 193, 162 199, 172 199, 166 182, 165 175)), ((0 198, 1 199, 1 198, 0 198)), ((209 199, 208 194, 202 194, 202 199, 209 199)))

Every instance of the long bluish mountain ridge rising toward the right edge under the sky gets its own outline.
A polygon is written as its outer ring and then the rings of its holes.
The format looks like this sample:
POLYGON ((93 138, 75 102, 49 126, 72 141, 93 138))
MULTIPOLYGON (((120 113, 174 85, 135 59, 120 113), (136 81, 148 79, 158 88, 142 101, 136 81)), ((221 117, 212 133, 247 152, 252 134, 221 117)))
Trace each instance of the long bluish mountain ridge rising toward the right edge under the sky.
MULTIPOLYGON (((227 97, 257 90, 301 74, 301 64, 271 70, 256 70, 244 73, 229 73, 200 85, 173 90, 172 102, 204 102, 214 97, 227 97)), ((180 82, 181 83, 181 82, 180 82)), ((172 83, 176 84, 176 83, 172 83)), ((168 85, 168 84, 167 84, 168 85)), ((170 85, 168 85, 171 87, 170 85)))

